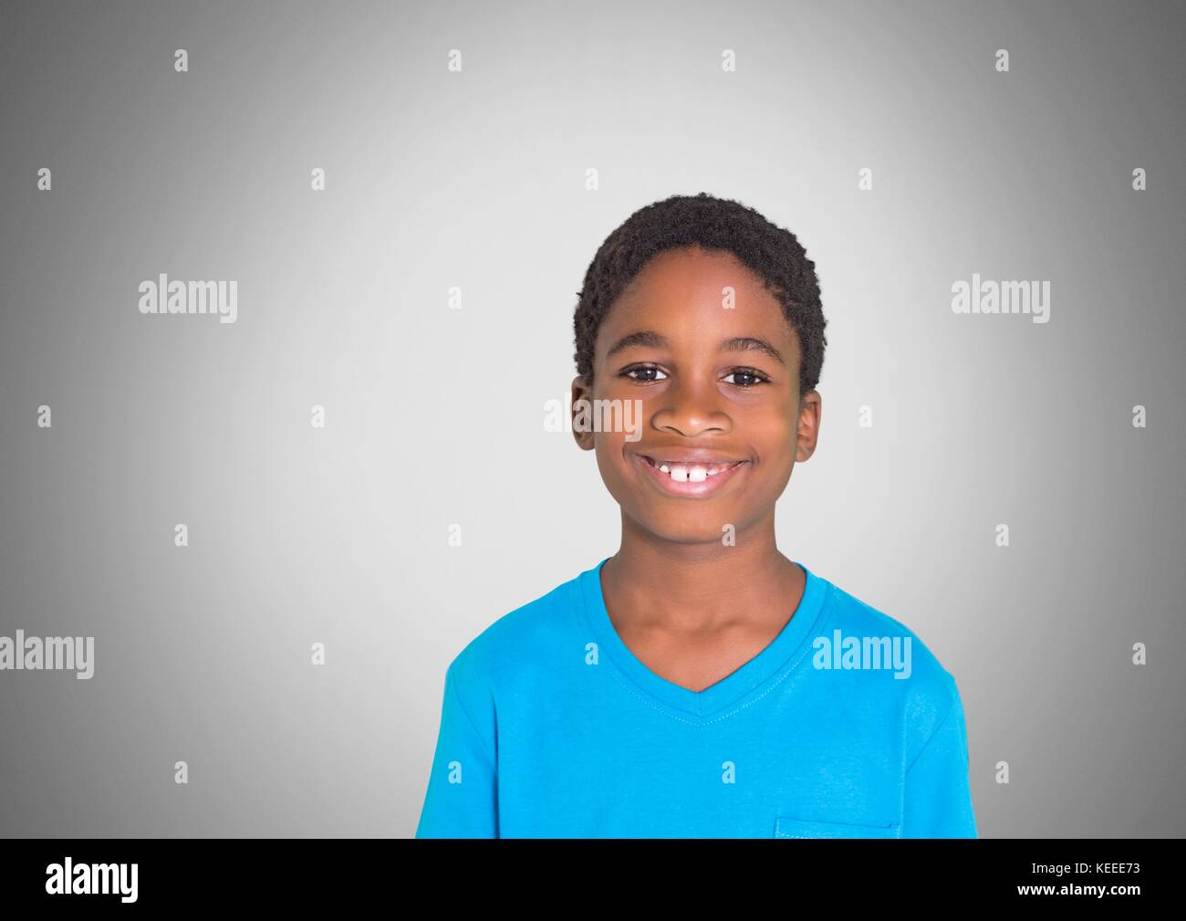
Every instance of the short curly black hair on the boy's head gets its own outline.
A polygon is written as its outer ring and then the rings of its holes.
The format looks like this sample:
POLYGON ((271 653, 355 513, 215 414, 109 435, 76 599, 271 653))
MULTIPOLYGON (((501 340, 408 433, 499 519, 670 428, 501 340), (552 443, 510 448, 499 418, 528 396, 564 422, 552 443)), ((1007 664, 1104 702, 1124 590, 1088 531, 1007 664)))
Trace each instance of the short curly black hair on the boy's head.
POLYGON ((576 292, 576 373, 592 386, 593 345, 601 320, 643 266, 664 250, 697 244, 733 253, 763 279, 798 337, 799 394, 815 389, 828 344, 815 262, 790 230, 753 208, 708 192, 672 195, 640 208, 601 243, 585 273, 585 286, 576 292))

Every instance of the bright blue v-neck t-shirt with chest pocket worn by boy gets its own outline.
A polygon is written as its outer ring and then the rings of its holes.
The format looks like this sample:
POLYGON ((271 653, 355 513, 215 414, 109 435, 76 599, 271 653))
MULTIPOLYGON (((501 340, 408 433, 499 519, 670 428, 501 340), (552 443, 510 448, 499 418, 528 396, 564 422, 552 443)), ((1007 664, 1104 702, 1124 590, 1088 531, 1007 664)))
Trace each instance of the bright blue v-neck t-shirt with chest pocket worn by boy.
POLYGON ((618 636, 601 565, 487 627, 445 673, 417 838, 976 837, 955 679, 816 576, 703 691, 618 636))

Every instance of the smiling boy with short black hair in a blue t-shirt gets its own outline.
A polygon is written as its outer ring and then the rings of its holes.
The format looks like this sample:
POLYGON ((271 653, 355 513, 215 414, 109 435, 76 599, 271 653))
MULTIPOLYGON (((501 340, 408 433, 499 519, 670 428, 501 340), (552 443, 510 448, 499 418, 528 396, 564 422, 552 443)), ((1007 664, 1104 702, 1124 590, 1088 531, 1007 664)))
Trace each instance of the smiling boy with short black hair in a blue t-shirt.
POLYGON ((621 544, 449 665, 416 837, 976 837, 955 679, 776 547, 827 344, 795 236, 657 202, 602 243, 574 325, 574 413, 639 401, 632 431, 574 425, 621 544))

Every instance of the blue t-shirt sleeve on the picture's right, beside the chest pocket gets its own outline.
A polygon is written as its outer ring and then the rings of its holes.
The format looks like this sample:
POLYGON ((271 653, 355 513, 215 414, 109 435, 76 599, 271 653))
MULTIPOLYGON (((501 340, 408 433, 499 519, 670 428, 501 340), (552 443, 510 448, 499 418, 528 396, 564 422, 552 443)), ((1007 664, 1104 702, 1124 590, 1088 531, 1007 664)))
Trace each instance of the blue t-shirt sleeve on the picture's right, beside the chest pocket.
POLYGON ((946 678, 950 709, 906 768, 904 838, 976 837, 963 704, 955 679, 946 678))

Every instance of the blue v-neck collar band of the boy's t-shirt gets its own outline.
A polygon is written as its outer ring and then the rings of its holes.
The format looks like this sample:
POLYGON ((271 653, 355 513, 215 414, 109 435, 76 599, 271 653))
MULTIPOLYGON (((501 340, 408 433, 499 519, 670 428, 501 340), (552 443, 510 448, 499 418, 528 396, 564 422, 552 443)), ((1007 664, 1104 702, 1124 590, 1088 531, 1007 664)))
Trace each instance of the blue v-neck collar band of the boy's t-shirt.
MULTIPOLYGON (((691 717, 716 717, 720 711, 755 694, 767 681, 776 680, 797 663, 799 653, 811 628, 815 625, 829 597, 831 583, 816 576, 802 563, 796 565, 806 574, 806 586, 799 599, 795 616, 779 634, 753 659, 703 691, 693 691, 657 675, 630 652, 610 620, 605 595, 601 590, 601 567, 606 557, 597 566, 578 577, 586 623, 597 637, 602 653, 607 653, 612 666, 630 679, 653 700, 691 717)), ((703 720, 708 722, 708 720, 703 720)))

